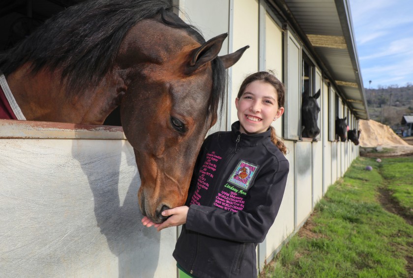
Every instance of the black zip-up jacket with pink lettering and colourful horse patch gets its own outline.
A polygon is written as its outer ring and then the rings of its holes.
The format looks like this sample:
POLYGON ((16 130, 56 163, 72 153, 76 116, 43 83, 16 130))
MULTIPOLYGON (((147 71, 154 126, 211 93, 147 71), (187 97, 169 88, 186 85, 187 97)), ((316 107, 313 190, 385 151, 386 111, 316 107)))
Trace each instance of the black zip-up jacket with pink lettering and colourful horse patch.
POLYGON ((256 247, 277 216, 289 171, 270 130, 207 137, 199 153, 173 253, 197 278, 257 277, 256 247))

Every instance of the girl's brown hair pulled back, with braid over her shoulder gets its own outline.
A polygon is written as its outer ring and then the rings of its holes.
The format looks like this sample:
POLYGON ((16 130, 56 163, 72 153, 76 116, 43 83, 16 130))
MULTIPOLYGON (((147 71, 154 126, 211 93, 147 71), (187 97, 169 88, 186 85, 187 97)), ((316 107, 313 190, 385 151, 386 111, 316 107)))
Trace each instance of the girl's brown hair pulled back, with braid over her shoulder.
MULTIPOLYGON (((241 86, 239 87, 238 95, 236 96, 238 99, 241 97, 245 88, 248 84, 254 81, 261 81, 272 85, 277 92, 277 103, 278 107, 284 107, 285 101, 285 88, 281 81, 279 81, 270 71, 259 71, 249 75, 247 78, 244 79, 241 86)), ((278 147, 278 149, 283 153, 287 153, 287 147, 284 145, 284 142, 280 140, 277 135, 275 134, 275 128, 269 126, 271 129, 271 141, 278 147)))

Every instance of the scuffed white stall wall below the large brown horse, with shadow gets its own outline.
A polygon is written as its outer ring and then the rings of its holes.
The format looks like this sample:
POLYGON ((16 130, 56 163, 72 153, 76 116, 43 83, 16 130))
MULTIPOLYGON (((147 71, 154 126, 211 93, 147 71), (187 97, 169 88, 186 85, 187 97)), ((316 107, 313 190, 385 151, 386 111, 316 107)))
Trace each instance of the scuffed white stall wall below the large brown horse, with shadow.
POLYGON ((0 277, 176 277, 177 231, 142 225, 126 140, 1 131, 0 277))

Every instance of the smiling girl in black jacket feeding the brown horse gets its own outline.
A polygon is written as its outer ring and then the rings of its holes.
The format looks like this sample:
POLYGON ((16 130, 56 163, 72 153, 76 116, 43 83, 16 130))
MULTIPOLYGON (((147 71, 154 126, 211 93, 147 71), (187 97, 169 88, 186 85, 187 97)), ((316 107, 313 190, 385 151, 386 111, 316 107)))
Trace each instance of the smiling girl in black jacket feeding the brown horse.
POLYGON ((270 126, 284 97, 272 74, 248 76, 235 101, 239 121, 204 141, 186 204, 164 211, 161 224, 142 219, 158 231, 183 224, 173 256, 189 277, 257 277, 256 247, 277 216, 289 171, 270 126))

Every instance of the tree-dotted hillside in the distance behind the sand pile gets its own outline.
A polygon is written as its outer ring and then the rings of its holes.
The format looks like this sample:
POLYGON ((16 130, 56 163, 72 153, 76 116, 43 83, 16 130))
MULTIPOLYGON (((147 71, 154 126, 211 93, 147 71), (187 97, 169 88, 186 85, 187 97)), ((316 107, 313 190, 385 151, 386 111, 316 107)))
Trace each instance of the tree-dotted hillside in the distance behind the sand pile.
POLYGON ((413 85, 410 83, 405 87, 392 85, 364 90, 370 119, 388 125, 393 130, 400 128, 403 114, 413 113, 413 85))

